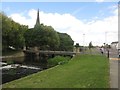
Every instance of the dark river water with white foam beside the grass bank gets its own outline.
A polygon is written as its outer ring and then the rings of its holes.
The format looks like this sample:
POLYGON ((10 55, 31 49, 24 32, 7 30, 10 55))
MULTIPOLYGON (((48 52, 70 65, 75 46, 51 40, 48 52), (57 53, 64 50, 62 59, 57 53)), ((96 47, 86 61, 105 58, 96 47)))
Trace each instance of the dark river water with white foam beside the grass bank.
POLYGON ((14 57, 2 59, 2 84, 50 68, 46 60, 14 57))

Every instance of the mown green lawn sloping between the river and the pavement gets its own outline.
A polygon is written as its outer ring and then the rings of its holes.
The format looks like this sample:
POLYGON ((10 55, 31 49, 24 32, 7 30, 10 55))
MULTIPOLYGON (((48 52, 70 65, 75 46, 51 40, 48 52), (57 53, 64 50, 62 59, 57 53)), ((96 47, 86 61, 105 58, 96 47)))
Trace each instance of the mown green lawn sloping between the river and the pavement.
POLYGON ((109 61, 102 55, 77 55, 64 65, 6 83, 3 88, 109 88, 109 61))

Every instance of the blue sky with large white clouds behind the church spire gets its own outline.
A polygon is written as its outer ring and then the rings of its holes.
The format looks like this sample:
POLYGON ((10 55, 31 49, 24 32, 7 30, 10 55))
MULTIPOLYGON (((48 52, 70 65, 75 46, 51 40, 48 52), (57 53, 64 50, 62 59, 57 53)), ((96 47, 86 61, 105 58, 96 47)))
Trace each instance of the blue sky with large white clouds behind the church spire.
POLYGON ((2 11, 14 21, 34 27, 40 23, 68 33, 75 43, 103 45, 118 41, 117 2, 3 2, 2 11))

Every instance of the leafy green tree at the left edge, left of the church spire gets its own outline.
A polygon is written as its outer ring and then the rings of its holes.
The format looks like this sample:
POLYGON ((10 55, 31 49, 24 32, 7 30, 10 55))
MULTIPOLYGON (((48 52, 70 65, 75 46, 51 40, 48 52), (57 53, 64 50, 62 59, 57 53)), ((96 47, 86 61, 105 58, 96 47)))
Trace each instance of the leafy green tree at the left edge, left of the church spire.
POLYGON ((9 46, 15 49, 22 48, 25 44, 23 34, 28 27, 14 22, 4 13, 0 13, 0 17, 2 17, 2 49, 5 50, 9 46))

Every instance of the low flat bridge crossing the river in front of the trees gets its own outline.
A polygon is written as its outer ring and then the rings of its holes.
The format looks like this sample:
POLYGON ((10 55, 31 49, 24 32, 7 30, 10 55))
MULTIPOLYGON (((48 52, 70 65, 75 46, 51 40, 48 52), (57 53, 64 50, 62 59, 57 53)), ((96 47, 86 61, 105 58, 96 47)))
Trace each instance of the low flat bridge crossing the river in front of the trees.
POLYGON ((54 56, 70 56, 73 57, 76 52, 71 51, 42 51, 42 50, 24 50, 25 57, 27 60, 44 60, 47 61, 48 58, 53 58, 54 56))

